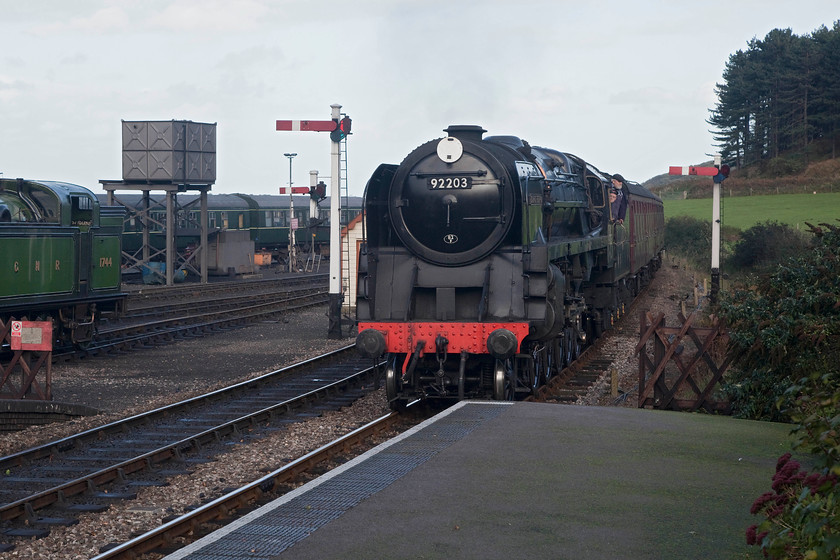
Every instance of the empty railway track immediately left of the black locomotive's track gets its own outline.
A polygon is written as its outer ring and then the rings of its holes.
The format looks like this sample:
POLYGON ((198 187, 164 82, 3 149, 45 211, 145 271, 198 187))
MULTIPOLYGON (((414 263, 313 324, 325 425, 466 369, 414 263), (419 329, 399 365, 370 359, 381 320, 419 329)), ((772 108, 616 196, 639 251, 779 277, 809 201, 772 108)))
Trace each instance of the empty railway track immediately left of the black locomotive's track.
MULTIPOLYGON (((364 362, 364 363, 363 363, 364 362)), ((104 511, 142 486, 212 460, 231 438, 257 440, 338 409, 373 388, 352 347, 119 422, 0 458, 4 538, 44 536, 104 511)))

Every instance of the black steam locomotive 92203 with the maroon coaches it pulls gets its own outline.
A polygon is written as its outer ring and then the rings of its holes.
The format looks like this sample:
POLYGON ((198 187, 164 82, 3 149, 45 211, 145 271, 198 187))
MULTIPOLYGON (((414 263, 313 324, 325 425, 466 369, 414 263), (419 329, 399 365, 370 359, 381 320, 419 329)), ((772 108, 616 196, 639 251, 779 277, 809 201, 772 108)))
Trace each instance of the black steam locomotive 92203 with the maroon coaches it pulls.
POLYGON ((391 406, 530 395, 610 328, 661 262, 662 201, 478 126, 380 165, 365 191, 357 347, 391 406))

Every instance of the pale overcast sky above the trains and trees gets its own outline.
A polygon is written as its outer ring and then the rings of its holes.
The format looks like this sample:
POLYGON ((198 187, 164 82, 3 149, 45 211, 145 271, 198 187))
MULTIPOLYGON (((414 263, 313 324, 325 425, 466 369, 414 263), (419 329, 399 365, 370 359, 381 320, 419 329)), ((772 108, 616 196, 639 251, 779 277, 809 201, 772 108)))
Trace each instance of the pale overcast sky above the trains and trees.
POLYGON ((276 194, 330 171, 353 119, 351 194, 449 124, 572 152, 645 181, 714 152, 730 54, 837 0, 0 0, 0 173, 102 192, 121 120, 218 123, 212 192, 276 194))

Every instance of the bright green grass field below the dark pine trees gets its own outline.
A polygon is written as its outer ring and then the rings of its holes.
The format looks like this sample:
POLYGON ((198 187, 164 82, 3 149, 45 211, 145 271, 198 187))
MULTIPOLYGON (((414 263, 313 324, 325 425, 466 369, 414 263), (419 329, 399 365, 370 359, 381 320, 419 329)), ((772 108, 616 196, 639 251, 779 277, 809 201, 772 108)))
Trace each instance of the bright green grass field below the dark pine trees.
MULTIPOLYGON (((692 216, 701 220, 712 219, 712 199, 666 200, 665 218, 692 216)), ((806 229, 805 222, 817 224, 840 223, 840 193, 779 194, 767 196, 728 197, 721 200, 721 222, 741 230, 755 224, 775 220, 806 229)))

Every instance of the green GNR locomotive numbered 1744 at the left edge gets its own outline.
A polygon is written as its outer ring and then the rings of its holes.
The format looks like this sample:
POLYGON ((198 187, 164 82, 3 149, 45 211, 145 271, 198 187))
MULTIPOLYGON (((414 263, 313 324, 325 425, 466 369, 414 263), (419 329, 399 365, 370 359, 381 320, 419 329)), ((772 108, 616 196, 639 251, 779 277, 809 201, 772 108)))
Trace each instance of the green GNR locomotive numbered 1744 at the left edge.
POLYGON ((57 344, 80 345, 121 313, 124 215, 78 185, 0 179, 0 332, 52 320, 57 344))

